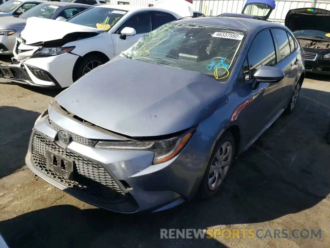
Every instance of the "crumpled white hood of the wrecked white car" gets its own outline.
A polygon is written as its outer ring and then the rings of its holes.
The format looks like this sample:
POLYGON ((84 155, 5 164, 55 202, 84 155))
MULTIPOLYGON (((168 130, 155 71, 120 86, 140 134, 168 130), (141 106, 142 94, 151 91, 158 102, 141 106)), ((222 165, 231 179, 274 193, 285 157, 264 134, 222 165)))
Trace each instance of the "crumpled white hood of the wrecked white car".
POLYGON ((40 17, 30 17, 21 32, 26 45, 39 42, 62 39, 69 33, 101 32, 100 29, 74 24, 66 21, 56 21, 40 17))

